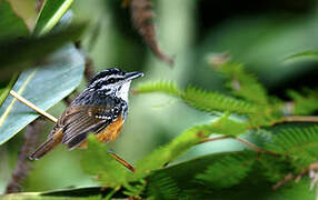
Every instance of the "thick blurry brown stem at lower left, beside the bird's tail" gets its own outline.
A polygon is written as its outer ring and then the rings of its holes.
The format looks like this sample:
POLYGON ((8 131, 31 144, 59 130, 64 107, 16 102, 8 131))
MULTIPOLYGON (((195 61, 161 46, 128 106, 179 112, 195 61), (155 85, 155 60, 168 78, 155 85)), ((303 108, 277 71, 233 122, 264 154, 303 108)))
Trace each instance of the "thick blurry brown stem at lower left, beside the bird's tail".
POLYGON ((21 184, 28 177, 31 168, 28 156, 36 150, 36 146, 39 142, 39 138, 42 132, 41 128, 42 121, 40 119, 33 121, 27 127, 24 133, 24 142, 20 149, 16 169, 12 173, 10 182, 7 186, 6 193, 21 191, 21 184))

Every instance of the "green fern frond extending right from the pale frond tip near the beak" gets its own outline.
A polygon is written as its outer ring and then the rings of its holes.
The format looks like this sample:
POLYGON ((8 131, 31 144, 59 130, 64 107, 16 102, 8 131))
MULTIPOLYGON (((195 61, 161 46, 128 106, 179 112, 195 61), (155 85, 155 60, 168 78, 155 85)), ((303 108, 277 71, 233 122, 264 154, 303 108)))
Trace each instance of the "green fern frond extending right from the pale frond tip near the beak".
POLYGON ((207 112, 217 110, 236 113, 255 113, 259 109, 254 103, 193 87, 188 87, 182 98, 188 104, 207 112))

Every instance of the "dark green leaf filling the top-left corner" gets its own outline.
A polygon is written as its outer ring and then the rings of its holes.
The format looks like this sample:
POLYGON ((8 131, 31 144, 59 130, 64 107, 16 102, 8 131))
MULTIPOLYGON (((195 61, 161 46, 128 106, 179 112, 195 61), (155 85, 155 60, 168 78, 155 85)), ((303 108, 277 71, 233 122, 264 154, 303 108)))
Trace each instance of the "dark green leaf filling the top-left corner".
POLYGON ((0 41, 30 34, 23 20, 13 12, 8 1, 0 1, 0 41))

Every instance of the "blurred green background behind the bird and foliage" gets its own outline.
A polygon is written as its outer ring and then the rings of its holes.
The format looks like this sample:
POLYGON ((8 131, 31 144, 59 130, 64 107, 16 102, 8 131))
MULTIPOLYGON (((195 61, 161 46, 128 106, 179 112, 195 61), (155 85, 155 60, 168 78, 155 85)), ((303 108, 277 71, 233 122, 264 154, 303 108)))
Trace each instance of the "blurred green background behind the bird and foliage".
MULTIPOLYGON (((175 57, 172 69, 150 52, 121 1, 74 1, 74 21, 90 22, 82 47, 98 71, 110 67, 143 71, 145 77, 136 80, 132 88, 143 81, 173 80, 180 87, 193 84, 225 92, 222 76, 209 67, 207 58, 229 52, 233 60, 246 63, 271 94, 286 98, 286 89, 317 86, 317 61, 285 61, 290 54, 318 49, 314 0, 153 0, 153 8, 160 47, 175 57)), ((79 90, 85 87, 83 81, 79 90)), ((63 109, 60 102, 49 112, 58 117, 63 109)), ((110 146, 131 163, 187 128, 213 118, 162 94, 130 96, 129 111, 120 138, 110 146)), ((49 121, 46 124, 41 141, 52 127, 49 121)), ((19 133, 0 148, 0 192, 10 179, 21 143, 19 133)), ((215 141, 193 148, 180 160, 241 148, 236 141, 215 141)), ((81 170, 81 152, 67 151, 61 146, 33 162, 24 190, 95 186, 81 170)))

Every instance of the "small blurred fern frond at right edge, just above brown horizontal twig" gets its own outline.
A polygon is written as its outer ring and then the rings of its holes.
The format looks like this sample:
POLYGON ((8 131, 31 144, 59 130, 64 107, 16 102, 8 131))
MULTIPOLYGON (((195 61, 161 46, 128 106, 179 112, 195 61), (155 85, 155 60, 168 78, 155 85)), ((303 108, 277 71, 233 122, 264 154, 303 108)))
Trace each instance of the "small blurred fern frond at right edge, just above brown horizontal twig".
POLYGON ((305 96, 297 91, 288 91, 288 96, 294 100, 294 114, 311 114, 318 110, 318 92, 307 91, 305 96))

